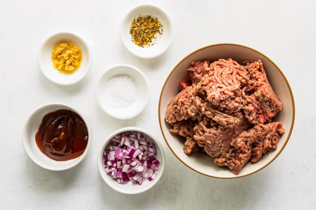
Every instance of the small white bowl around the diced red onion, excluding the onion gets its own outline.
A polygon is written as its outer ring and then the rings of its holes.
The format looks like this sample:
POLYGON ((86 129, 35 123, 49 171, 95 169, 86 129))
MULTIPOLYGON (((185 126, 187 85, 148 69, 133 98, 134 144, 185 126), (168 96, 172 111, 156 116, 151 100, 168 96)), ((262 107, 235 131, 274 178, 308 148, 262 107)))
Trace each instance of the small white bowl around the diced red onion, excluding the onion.
POLYGON ((101 177, 103 180, 108 184, 110 187, 112 187, 114 190, 124 193, 124 194, 138 194, 145 192, 146 190, 149 190, 152 188, 160 179, 162 173, 163 173, 163 168, 165 167, 165 153, 162 149, 161 144, 159 141, 156 140, 152 135, 150 135, 148 132, 145 130, 138 128, 138 127, 125 127, 125 128, 120 128, 113 133, 111 133, 107 138, 103 146, 99 150, 98 154, 98 169, 100 172, 101 177), (144 180, 141 185, 138 184, 131 184, 131 183, 126 183, 126 184, 119 184, 116 180, 114 180, 109 174, 105 173, 104 171, 104 150, 106 149, 106 146, 109 144, 110 140, 118 135, 119 133, 125 132, 125 131, 138 131, 142 132, 147 135, 147 139, 149 143, 155 143, 157 146, 157 160, 159 160, 160 165, 155 172, 157 173, 157 176, 155 177, 154 180, 149 181, 148 179, 144 180))

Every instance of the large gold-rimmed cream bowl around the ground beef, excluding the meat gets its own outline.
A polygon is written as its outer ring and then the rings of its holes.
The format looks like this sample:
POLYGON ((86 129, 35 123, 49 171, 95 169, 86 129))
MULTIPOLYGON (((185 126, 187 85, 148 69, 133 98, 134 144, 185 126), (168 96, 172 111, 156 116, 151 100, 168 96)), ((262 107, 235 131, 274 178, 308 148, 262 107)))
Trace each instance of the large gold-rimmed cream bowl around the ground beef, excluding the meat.
POLYGON ((295 117, 295 106, 292 90, 290 88, 289 82, 279 67, 277 67, 277 65, 267 56, 257 50, 240 44, 231 43, 208 45, 203 48, 199 48, 185 56, 185 58, 183 58, 173 68, 167 77, 166 82, 164 83, 161 90, 158 109, 161 132, 173 154, 192 170, 206 176, 223 179, 247 176, 269 165, 281 153, 287 144, 292 133, 295 117), (188 69, 188 67, 191 65, 191 61, 206 59, 214 60, 220 58, 232 58, 237 62, 242 62, 246 59, 261 59, 264 64, 264 69, 269 82, 276 95, 281 100, 283 106, 282 111, 272 119, 274 122, 282 122, 285 128, 285 133, 280 138, 278 148, 276 150, 270 150, 256 163, 247 162, 238 175, 232 173, 228 167, 215 165, 213 163, 213 158, 210 156, 197 153, 186 155, 182 149, 185 142, 184 137, 170 133, 169 129, 171 126, 165 121, 164 118, 168 102, 179 93, 179 83, 184 79, 188 79, 188 71, 186 71, 186 69, 188 69))

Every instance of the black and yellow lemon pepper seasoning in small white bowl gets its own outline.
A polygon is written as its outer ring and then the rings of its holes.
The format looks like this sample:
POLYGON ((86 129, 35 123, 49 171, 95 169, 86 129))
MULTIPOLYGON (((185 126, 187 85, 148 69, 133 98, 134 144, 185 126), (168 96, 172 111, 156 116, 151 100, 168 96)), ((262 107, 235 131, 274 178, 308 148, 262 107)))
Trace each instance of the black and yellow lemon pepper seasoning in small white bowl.
POLYGON ((134 19, 130 27, 132 42, 139 47, 150 47, 155 43, 154 39, 162 35, 163 25, 158 18, 148 16, 139 16, 134 19))

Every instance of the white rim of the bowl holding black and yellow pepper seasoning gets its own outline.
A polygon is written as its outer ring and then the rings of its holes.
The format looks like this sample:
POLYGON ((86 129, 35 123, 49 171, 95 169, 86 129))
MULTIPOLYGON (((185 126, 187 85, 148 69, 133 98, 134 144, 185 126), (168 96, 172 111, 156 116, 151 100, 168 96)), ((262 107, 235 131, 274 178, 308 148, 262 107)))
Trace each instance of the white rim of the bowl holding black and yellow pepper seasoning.
POLYGON ((124 45, 124 47, 133 55, 139 57, 139 58, 143 58, 143 59, 152 59, 152 58, 156 58, 162 54, 164 54, 167 49, 170 47, 170 44, 173 40, 173 22, 172 22, 172 19, 170 17, 170 15, 167 13, 167 11, 165 9, 163 9, 162 7, 156 5, 156 4, 149 4, 149 3, 145 3, 145 4, 138 4, 136 5, 135 7, 132 7, 131 9, 129 9, 126 14, 124 15, 123 19, 121 20, 121 23, 120 23, 120 26, 119 26, 119 35, 120 35, 120 39, 124 45), (170 25, 170 38, 168 40, 168 43, 166 45, 165 48, 163 48, 161 51, 158 51, 158 53, 152 55, 152 56, 146 56, 146 55, 139 55, 137 53, 134 53, 130 48, 128 48, 125 44, 125 42, 123 41, 123 22, 126 20, 126 18, 136 9, 139 9, 141 7, 151 7, 151 8, 154 8, 154 9, 158 9, 160 10, 167 18, 167 20, 169 21, 169 25, 170 25))

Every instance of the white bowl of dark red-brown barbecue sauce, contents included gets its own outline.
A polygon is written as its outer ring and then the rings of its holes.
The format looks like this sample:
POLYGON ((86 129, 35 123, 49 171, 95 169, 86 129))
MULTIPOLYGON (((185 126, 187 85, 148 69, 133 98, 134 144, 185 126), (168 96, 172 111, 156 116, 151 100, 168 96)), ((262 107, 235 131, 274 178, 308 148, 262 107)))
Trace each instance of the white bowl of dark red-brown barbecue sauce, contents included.
POLYGON ((74 108, 48 104, 34 111, 22 131, 27 155, 37 165, 63 171, 87 155, 92 138, 87 119, 74 108))

